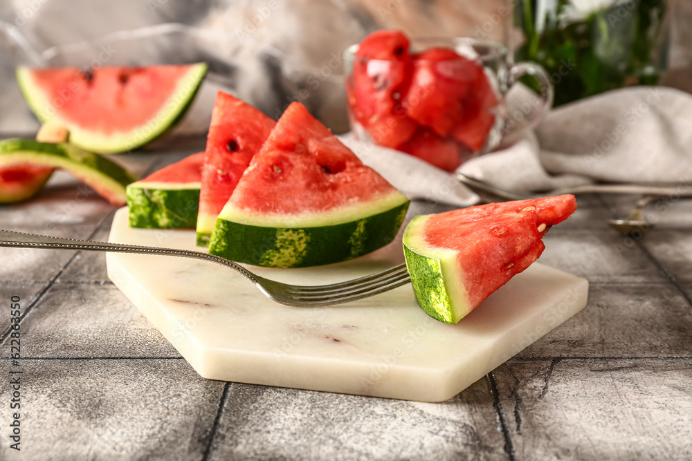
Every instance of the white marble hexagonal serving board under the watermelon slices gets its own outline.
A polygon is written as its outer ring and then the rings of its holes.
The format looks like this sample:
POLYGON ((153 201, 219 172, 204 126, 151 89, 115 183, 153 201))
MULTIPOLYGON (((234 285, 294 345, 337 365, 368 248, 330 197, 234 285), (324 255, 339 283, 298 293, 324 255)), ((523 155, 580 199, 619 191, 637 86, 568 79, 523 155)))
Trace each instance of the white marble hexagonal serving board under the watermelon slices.
MULTIPOLYGON (((131 229, 111 242, 199 250, 192 230, 131 229)), ((403 262, 399 245, 347 263, 251 270, 318 285, 403 262)), ((291 308, 221 265, 173 256, 107 254, 108 275, 203 377, 441 402, 579 312, 588 282, 534 263, 456 325, 428 317, 410 285, 329 308, 291 308)))

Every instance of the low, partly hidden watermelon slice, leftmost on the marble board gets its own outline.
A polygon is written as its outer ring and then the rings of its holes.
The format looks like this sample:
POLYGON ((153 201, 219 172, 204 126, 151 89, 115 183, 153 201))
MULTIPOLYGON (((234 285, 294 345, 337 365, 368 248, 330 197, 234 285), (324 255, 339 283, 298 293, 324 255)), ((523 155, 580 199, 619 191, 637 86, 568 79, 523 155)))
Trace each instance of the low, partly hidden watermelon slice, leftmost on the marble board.
POLYGON ((130 227, 194 227, 203 163, 204 153, 194 153, 128 185, 130 227))

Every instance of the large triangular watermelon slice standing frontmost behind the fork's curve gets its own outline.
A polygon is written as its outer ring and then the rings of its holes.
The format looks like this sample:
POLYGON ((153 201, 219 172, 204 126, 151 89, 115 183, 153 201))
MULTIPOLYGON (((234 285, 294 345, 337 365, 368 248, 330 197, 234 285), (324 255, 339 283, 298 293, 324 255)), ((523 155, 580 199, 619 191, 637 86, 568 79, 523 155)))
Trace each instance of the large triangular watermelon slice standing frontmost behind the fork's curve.
POLYGON ((221 211, 209 252, 267 267, 346 261, 392 241, 408 203, 294 102, 221 211))

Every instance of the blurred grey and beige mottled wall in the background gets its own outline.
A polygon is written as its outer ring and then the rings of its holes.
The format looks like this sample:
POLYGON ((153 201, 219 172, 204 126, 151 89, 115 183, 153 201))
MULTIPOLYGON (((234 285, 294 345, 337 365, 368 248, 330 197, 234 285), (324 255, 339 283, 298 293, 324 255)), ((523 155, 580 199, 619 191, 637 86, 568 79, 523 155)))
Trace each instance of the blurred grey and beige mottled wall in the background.
MULTIPOLYGON (((368 32, 400 28, 509 42, 512 0, 0 0, 0 133, 33 133, 14 68, 179 64, 210 73, 178 132, 205 133, 217 89, 273 117, 297 100, 347 129, 341 55, 368 32)), ((692 85, 692 1, 677 0, 671 56, 692 85)), ((691 88, 692 89, 692 88, 691 88)))

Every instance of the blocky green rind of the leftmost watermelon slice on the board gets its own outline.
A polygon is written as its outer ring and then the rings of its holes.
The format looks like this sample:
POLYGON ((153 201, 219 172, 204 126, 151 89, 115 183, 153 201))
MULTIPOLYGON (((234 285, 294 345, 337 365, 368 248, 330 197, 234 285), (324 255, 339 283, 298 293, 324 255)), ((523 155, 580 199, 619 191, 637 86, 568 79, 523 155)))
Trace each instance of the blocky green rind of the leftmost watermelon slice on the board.
POLYGON ((130 227, 191 229, 197 225, 199 182, 137 181, 127 186, 130 227))

